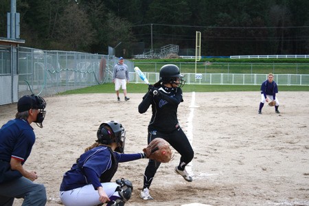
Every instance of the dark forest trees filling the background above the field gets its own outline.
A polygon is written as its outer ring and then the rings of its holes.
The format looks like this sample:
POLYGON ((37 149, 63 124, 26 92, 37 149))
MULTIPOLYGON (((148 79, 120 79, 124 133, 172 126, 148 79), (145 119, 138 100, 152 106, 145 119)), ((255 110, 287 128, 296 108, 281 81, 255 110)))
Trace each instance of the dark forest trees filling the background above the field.
MULTIPOLYGON (((16 1, 27 47, 103 53, 119 42, 117 49, 130 51, 132 43, 149 49, 153 39, 153 49, 194 48, 200 31, 202 54, 211 56, 309 51, 309 1, 304 0, 16 1)), ((0 36, 6 36, 9 11, 10 0, 1 0, 0 36)))

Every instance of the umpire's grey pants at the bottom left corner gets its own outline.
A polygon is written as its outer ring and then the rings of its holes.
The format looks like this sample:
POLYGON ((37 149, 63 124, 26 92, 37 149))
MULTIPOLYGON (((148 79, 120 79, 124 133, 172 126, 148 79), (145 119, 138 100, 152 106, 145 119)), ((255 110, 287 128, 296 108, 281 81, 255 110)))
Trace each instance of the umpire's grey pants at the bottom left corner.
POLYGON ((34 183, 23 176, 0 184, 0 205, 11 206, 14 198, 23 198, 22 206, 42 206, 47 201, 44 185, 34 183))

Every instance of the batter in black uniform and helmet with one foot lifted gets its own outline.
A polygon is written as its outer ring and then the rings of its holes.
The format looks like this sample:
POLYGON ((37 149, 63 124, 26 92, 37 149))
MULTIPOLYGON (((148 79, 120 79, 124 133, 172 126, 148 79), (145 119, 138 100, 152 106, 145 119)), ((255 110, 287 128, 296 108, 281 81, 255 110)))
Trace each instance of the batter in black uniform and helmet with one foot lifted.
MULTIPOLYGON (((192 161, 194 151, 177 119, 177 108, 183 102, 181 87, 185 84, 176 65, 164 65, 160 69, 159 82, 150 85, 143 101, 139 104, 139 113, 145 113, 151 105, 152 117, 148 125, 148 144, 152 139, 161 137, 181 155, 179 165, 174 169, 177 174, 191 182, 192 177, 185 166, 192 161), (155 95, 157 94, 157 95, 155 95)), ((149 187, 160 163, 150 159, 144 173, 144 186, 141 198, 151 200, 149 187)))

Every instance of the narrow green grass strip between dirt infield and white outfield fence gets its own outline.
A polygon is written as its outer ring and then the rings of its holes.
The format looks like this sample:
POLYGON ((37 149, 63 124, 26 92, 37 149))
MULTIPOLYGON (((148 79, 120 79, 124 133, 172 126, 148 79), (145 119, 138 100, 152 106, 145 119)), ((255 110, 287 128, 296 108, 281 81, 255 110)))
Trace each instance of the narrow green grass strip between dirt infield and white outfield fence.
MULTIPOLYGON (((309 91, 306 86, 278 86, 280 91, 309 91)), ((146 84, 127 84, 128 93, 146 93, 148 86, 146 84)), ((220 92, 220 91, 260 91, 260 85, 196 85, 186 84, 183 92, 220 92)), ((59 95, 82 94, 82 93, 115 93, 114 84, 100 84, 93 87, 85 87, 59 93, 59 95)))

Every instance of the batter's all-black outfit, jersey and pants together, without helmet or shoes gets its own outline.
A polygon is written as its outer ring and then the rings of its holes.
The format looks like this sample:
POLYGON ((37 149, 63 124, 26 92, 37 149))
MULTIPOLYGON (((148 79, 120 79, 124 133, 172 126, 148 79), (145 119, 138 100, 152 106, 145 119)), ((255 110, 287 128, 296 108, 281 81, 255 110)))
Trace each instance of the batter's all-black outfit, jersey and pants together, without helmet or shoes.
MULTIPOLYGON (((179 126, 177 109, 183 102, 181 88, 159 86, 159 95, 153 96, 149 92, 144 95, 139 104, 139 113, 145 113, 152 107, 152 117, 148 125, 148 144, 152 139, 161 137, 181 155, 180 164, 185 167, 194 157, 194 151, 185 133, 179 126)), ((144 173, 144 186, 149 188, 161 163, 150 159, 144 173)))

